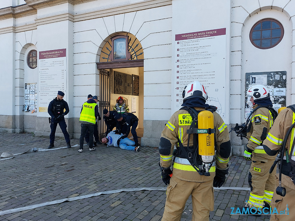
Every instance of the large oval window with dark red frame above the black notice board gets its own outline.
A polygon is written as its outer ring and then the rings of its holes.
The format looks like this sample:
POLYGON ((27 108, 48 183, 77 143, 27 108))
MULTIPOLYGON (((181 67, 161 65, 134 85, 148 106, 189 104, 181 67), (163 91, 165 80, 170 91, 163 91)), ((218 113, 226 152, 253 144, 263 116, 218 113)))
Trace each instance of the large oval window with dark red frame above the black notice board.
POLYGON ((275 47, 283 36, 283 25, 275 19, 262 19, 256 22, 250 31, 250 41, 259 49, 275 47))

